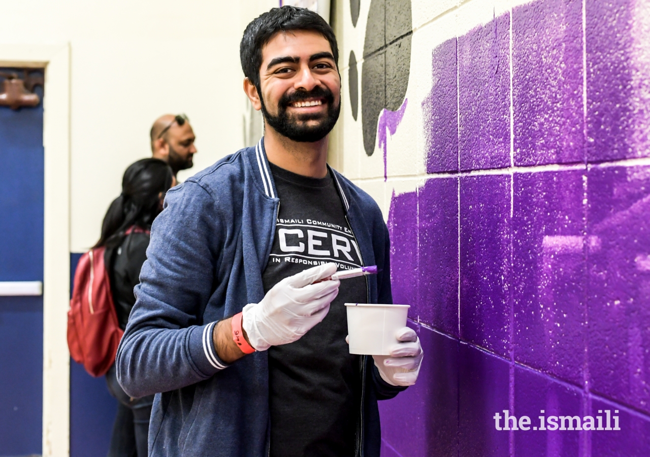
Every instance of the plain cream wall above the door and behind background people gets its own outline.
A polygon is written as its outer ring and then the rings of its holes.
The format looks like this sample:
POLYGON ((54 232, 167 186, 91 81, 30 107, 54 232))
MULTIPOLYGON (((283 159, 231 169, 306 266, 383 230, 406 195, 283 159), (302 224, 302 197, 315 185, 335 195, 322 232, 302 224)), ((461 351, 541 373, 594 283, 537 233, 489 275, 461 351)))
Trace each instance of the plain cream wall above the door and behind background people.
POLYGON ((73 252, 97 241, 123 171, 150 155, 159 115, 185 112, 196 133, 194 168, 180 179, 242 147, 239 41, 276 3, 0 0, 0 44, 70 43, 73 252))

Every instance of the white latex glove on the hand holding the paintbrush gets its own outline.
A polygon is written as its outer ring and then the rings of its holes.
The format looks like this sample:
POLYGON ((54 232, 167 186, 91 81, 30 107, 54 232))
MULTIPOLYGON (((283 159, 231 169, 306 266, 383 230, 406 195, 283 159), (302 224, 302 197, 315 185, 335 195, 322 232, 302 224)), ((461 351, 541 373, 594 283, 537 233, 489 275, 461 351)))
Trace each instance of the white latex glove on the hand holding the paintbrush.
POLYGON ((261 302, 242 310, 242 327, 256 350, 286 345, 300 339, 330 311, 330 303, 339 294, 339 281, 327 278, 337 270, 335 263, 307 268, 279 281, 261 302))

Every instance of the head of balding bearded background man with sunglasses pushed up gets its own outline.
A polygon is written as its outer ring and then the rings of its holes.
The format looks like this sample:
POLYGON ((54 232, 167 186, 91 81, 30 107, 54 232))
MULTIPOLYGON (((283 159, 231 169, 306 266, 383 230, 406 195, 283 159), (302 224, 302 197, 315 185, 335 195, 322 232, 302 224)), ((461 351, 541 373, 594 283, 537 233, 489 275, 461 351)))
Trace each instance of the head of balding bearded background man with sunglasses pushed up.
POLYGON ((164 114, 157 118, 149 132, 151 137, 151 155, 169 164, 174 173, 192 168, 192 157, 196 154, 194 130, 185 114, 164 114))

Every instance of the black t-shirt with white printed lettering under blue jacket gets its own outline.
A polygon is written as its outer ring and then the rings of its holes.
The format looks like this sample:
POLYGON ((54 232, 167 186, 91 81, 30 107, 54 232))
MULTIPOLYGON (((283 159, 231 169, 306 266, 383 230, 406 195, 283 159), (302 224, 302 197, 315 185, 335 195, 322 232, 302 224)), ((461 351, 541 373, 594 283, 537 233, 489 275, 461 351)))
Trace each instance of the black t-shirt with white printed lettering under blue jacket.
MULTIPOLYGON (((305 268, 361 266, 356 240, 330 174, 315 179, 270 164, 279 215, 265 293, 305 268)), ((345 336, 345 303, 365 303, 365 278, 341 281, 325 319, 294 343, 268 349, 271 457, 352 457, 361 398, 359 356, 345 336)))

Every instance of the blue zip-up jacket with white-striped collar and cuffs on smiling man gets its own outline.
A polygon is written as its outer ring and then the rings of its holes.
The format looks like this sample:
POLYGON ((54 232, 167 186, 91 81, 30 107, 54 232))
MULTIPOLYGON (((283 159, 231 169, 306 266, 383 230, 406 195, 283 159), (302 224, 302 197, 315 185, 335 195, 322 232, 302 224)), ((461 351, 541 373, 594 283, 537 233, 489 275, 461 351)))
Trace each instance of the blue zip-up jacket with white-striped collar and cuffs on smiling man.
MULTIPOLYGON (((372 198, 330 168, 364 265, 370 303, 392 303, 388 229, 372 198)), ((279 199, 263 139, 170 190, 153 222, 136 303, 116 367, 133 397, 156 393, 150 456, 264 457, 269 449, 268 359, 254 352, 225 363, 216 322, 264 297, 279 199), (162 392, 162 393, 161 393, 162 392)), ((357 456, 379 457, 377 400, 404 387, 387 384, 362 356, 363 402, 357 456)))

